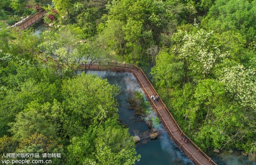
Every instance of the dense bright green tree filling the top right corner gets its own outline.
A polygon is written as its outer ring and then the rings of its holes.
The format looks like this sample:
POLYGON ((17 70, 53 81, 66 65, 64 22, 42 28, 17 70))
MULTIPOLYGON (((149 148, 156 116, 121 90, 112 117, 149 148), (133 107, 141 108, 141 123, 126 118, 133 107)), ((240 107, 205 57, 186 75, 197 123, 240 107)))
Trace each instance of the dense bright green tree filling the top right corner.
POLYGON ((218 33, 229 30, 241 33, 248 46, 256 35, 255 6, 255 0, 217 0, 202 21, 202 26, 218 33))

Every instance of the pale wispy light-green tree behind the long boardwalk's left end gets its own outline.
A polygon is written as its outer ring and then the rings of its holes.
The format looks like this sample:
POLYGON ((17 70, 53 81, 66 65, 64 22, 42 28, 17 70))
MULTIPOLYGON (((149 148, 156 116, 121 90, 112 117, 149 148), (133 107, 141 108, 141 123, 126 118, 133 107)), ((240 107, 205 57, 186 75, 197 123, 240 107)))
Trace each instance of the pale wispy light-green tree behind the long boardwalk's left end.
POLYGON ((44 42, 39 44, 39 48, 44 51, 43 58, 49 66, 56 68, 61 78, 76 75, 81 69, 80 64, 85 66, 84 72, 87 72, 88 65, 102 62, 108 57, 94 41, 87 42, 76 37, 73 28, 68 26, 60 32, 44 32, 44 42))

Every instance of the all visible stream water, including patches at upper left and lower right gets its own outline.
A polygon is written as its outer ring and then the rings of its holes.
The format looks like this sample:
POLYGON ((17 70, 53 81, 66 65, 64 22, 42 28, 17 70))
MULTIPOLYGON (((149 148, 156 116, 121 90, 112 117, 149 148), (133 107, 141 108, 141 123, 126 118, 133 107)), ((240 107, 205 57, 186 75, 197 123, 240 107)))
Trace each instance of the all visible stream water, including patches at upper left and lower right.
MULTIPOLYGON (((34 24, 35 34, 37 36, 40 33, 48 30, 43 22, 34 24)), ((122 122, 128 124, 129 132, 134 135, 134 130, 140 130, 141 132, 148 129, 145 122, 134 122, 134 112, 128 110, 127 89, 131 91, 142 90, 139 87, 135 77, 131 73, 126 72, 111 72, 111 71, 90 71, 92 74, 96 74, 102 78, 107 78, 111 84, 117 84, 121 87, 121 94, 118 97, 120 104, 119 116, 122 122)), ((159 129, 163 129, 161 125, 159 129)), ((192 165, 192 162, 180 151, 180 149, 170 140, 167 133, 164 132, 156 140, 151 140, 146 144, 137 143, 136 151, 141 155, 141 159, 136 165, 192 165)), ((218 165, 256 165, 256 162, 248 162, 247 158, 240 152, 234 151, 232 154, 228 152, 221 152, 220 154, 207 152, 218 165)))

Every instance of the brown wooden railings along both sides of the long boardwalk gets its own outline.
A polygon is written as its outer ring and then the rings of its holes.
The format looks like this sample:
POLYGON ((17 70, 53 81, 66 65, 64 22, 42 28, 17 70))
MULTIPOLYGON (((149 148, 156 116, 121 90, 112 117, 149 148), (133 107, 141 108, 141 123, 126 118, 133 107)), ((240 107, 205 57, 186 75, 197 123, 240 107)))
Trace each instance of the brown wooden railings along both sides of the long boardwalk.
MULTIPOLYGON (((86 65, 85 65, 86 66, 86 65)), ((161 116, 160 112, 157 110, 155 102, 153 102, 150 99, 150 94, 147 93, 147 91, 145 90, 144 86, 142 85, 142 83, 139 81, 139 78, 136 74, 136 71, 139 71, 143 77, 146 79, 146 81, 148 82, 151 90, 153 91, 154 95, 158 95, 159 94, 156 92, 156 89, 152 86, 151 82, 149 81, 149 79, 146 77, 145 73, 141 70, 141 68, 139 68, 138 66, 134 66, 134 65, 130 65, 130 64, 119 64, 119 63, 114 63, 114 62, 100 62, 94 65, 89 65, 86 66, 88 67, 89 70, 111 70, 111 71, 127 71, 127 72, 132 72, 134 77, 136 78, 136 80, 139 82, 139 86, 142 88, 142 90, 144 91, 147 99, 150 101, 156 115, 158 116, 158 118, 160 119, 161 123, 163 124, 163 126, 165 127, 165 129, 167 130, 167 133, 169 135, 169 137, 173 140, 173 142, 179 147, 181 148, 181 150, 184 152, 184 154, 187 155, 187 157, 189 159, 191 159, 193 161, 193 163, 195 163, 195 165, 202 165, 200 163, 200 160, 196 159, 195 156, 189 152, 189 150, 187 148, 184 147, 184 145, 175 137, 173 136, 173 132, 170 130, 170 128, 167 126, 167 123, 164 121, 163 117, 161 116), (133 70, 134 69, 134 70, 133 70)), ((177 121, 175 121, 175 119, 173 118, 172 113, 168 110, 167 106, 164 104, 164 102, 162 101, 162 99, 160 98, 160 104, 162 105, 162 107, 164 107, 164 110, 167 112, 167 114, 169 115, 170 119, 173 121, 173 123, 175 124, 178 132, 180 133, 180 136, 182 137, 188 137, 182 130, 181 128, 178 126, 177 121)), ((209 164, 211 165, 217 165, 213 160, 211 160, 210 157, 208 157, 192 140, 188 140, 188 143, 191 144, 198 153, 200 153, 207 161, 209 164)))

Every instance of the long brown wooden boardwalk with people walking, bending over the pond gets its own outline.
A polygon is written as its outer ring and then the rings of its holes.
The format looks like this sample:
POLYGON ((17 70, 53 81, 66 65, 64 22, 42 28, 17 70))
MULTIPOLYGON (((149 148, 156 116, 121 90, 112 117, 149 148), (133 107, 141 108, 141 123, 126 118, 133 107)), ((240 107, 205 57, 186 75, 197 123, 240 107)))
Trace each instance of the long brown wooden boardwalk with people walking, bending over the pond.
POLYGON ((149 79, 145 76, 145 73, 141 70, 141 68, 134 65, 118 64, 112 62, 100 63, 98 65, 80 66, 85 70, 92 71, 110 70, 132 72, 172 141, 183 151, 184 154, 187 155, 189 159, 192 160, 195 165, 217 165, 194 142, 192 142, 192 140, 188 138, 189 140, 187 143, 183 141, 183 137, 186 135, 180 129, 177 121, 175 121, 173 115, 167 109, 161 98, 159 102, 153 102, 150 99, 150 96, 152 94, 154 94, 155 96, 159 96, 159 94, 156 92, 155 88, 152 86, 149 79))

